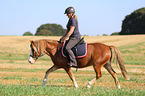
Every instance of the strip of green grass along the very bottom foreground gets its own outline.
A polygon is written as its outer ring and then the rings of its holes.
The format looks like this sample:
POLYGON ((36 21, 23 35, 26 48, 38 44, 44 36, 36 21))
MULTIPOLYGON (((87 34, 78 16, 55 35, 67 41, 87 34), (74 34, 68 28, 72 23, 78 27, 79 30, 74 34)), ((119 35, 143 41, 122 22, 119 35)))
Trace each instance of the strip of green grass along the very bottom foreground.
POLYGON ((145 91, 139 89, 110 89, 105 87, 72 88, 69 86, 41 85, 0 85, 1 96, 144 96, 145 91), (6 91, 5 91, 6 90, 6 91))

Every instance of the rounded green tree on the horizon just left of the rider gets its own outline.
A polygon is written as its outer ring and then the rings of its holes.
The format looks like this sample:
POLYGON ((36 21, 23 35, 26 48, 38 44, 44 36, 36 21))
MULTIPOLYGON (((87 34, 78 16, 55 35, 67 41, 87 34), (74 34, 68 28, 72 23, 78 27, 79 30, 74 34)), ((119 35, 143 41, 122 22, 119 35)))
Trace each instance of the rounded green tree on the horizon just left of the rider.
POLYGON ((36 36, 61 36, 66 30, 59 24, 43 24, 41 25, 35 35, 36 36))

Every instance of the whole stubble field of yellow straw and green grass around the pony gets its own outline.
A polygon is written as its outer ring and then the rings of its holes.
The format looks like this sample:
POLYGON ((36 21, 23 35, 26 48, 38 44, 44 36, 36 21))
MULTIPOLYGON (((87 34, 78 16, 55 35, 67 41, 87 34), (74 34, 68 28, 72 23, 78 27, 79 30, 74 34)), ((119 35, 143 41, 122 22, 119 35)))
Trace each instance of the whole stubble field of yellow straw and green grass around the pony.
POLYGON ((119 48, 131 78, 126 81, 119 66, 112 63, 121 89, 116 89, 113 78, 104 68, 103 76, 87 89, 87 83, 95 77, 92 67, 79 69, 78 72, 72 68, 79 85, 77 89, 62 69, 51 73, 48 85, 42 86, 45 71, 53 64, 47 55, 39 58, 35 64, 29 64, 29 40, 59 38, 0 36, 0 95, 145 96, 145 35, 85 37, 88 43, 101 42, 119 48))

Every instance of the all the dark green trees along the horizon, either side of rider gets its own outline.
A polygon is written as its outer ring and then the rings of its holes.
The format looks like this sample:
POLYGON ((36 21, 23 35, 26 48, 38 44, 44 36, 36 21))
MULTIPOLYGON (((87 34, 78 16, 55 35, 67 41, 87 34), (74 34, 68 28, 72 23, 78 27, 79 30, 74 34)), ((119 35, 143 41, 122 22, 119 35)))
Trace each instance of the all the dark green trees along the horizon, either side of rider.
MULTIPOLYGON (((43 24, 37 28, 35 36, 62 36, 65 33, 60 24, 43 24)), ((145 7, 135 10, 130 15, 127 15, 122 21, 122 29, 120 32, 114 32, 111 35, 131 35, 145 34, 145 7)), ((33 36, 28 31, 23 36, 33 36)))

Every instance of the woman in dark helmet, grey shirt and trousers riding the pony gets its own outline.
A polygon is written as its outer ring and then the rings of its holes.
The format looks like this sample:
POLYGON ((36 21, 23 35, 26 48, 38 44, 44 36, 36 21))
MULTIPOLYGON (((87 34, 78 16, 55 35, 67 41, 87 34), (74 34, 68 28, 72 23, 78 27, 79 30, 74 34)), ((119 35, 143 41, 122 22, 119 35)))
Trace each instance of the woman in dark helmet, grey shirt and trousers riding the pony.
POLYGON ((67 38, 68 39, 68 43, 66 45, 66 52, 69 58, 69 66, 72 67, 77 67, 77 61, 75 59, 75 55, 72 52, 71 48, 73 48, 79 41, 81 38, 79 29, 78 29, 78 21, 77 21, 77 16, 75 15, 75 9, 73 7, 68 7, 65 10, 65 13, 69 20, 68 23, 66 25, 67 30, 64 33, 64 35, 61 37, 60 41, 64 42, 67 38))

